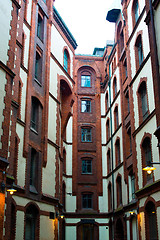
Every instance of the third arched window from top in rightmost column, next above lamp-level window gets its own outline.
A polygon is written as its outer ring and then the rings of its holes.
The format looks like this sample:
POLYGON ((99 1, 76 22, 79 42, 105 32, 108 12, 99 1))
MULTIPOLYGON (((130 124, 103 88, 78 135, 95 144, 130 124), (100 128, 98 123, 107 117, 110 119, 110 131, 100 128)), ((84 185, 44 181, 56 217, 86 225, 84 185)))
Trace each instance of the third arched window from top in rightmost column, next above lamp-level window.
POLYGON ((144 121, 148 117, 148 102, 147 102, 147 89, 146 89, 146 82, 142 82, 139 87, 139 113, 140 118, 142 115, 142 120, 144 121))

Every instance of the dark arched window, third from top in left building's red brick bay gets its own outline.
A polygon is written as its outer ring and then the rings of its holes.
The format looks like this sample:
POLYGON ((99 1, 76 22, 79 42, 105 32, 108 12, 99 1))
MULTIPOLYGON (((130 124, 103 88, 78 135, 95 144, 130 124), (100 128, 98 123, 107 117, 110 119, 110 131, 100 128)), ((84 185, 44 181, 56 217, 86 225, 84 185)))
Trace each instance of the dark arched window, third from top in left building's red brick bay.
POLYGON ((32 111, 31 111, 31 128, 38 131, 38 101, 32 98, 32 111))

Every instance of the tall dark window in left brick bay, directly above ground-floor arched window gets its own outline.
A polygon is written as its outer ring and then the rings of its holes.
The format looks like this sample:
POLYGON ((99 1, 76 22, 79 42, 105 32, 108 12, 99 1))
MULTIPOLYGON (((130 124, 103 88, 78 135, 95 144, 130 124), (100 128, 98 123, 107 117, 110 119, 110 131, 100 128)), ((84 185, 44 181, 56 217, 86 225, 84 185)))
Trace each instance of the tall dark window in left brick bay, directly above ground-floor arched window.
POLYGON ((38 159, 37 152, 33 148, 31 149, 31 164, 30 164, 30 186, 37 188, 38 180, 38 159))

